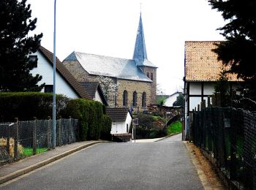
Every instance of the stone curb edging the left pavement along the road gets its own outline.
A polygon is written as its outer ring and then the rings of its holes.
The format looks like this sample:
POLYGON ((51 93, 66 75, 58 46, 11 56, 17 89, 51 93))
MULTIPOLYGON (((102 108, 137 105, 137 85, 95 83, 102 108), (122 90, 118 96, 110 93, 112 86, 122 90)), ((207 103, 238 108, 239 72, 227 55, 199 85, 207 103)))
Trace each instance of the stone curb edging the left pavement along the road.
POLYGON ((91 145, 96 145, 96 144, 99 144, 99 143, 102 143, 102 142, 109 142, 109 141, 103 141, 103 140, 102 140, 102 141, 96 141, 96 142, 89 142, 89 143, 86 144, 86 145, 80 145, 80 146, 78 146, 78 147, 76 147, 76 148, 73 148, 72 150, 66 151, 66 152, 64 152, 64 153, 60 153, 60 154, 58 154, 58 155, 56 155, 56 156, 53 156, 53 157, 51 157, 51 158, 49 158, 49 159, 45 159, 45 160, 43 160, 43 161, 39 161, 37 164, 33 164, 33 165, 29 166, 29 167, 26 167, 26 168, 23 168, 23 169, 21 169, 21 170, 12 172, 12 173, 10 173, 10 174, 8 174, 8 175, 4 175, 3 177, 0 178, 0 184, 1 184, 1 183, 5 183, 5 182, 7 182, 8 180, 12 180, 12 179, 14 179, 14 178, 18 178, 20 175, 24 175, 24 174, 26 174, 26 173, 28 173, 28 172, 31 172, 31 171, 33 171, 33 170, 38 169, 39 167, 43 167, 43 166, 45 166, 46 164, 50 164, 50 163, 53 162, 53 161, 56 161, 56 160, 61 159, 61 158, 64 158, 65 156, 68 156, 68 155, 70 155, 70 154, 72 154, 72 153, 75 153, 75 152, 77 152, 77 151, 80 151, 80 150, 82 150, 83 148, 87 148, 87 147, 89 147, 89 146, 91 146, 91 145))

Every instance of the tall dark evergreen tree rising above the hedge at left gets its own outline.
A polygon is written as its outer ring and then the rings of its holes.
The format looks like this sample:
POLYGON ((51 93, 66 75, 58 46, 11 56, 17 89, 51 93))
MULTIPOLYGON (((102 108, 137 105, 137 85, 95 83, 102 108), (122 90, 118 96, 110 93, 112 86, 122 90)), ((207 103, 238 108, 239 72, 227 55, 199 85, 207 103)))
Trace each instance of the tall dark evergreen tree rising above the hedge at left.
POLYGON ((29 37, 36 28, 37 18, 31 19, 26 0, 0 1, 0 91, 40 91, 42 76, 29 72, 37 59, 29 59, 40 45, 42 34, 29 37))

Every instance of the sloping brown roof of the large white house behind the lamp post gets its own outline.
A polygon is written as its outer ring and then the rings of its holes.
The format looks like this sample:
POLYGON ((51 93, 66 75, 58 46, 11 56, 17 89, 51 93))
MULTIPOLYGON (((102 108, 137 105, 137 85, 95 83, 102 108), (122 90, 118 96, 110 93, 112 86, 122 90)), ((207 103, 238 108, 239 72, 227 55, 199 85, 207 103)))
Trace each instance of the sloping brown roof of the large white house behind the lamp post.
MULTIPOLYGON (((40 46, 39 52, 42 53, 42 56, 44 56, 48 62, 53 66, 53 53, 51 53, 49 50, 45 49, 45 47, 40 46)), ((59 72, 61 77, 66 80, 66 82, 69 84, 71 88, 83 99, 91 99, 89 94, 86 93, 86 91, 83 89, 82 86, 75 80, 75 77, 71 75, 71 73, 66 69, 66 67, 59 61, 59 58, 56 57, 56 71, 59 72)))

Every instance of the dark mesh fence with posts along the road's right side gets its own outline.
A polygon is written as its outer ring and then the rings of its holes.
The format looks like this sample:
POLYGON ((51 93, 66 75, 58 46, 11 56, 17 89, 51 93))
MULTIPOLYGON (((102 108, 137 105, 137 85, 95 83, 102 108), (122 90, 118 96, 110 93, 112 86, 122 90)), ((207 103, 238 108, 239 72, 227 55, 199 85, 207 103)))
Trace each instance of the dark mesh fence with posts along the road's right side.
POLYGON ((256 189, 256 115, 231 107, 192 113, 192 141, 237 189, 256 189))

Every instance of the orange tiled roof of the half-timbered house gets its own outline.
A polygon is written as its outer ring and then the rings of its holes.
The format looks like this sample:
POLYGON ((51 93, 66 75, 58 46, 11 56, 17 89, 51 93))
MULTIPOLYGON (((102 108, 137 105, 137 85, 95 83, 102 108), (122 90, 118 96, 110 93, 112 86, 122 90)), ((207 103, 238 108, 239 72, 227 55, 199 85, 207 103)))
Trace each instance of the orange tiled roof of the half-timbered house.
MULTIPOLYGON (((185 42, 185 80, 217 81, 222 70, 222 61, 217 60, 214 43, 220 41, 188 41, 185 42)), ((227 68, 228 69, 228 68, 227 68)), ((230 81, 238 80, 237 75, 228 74, 230 81)))

